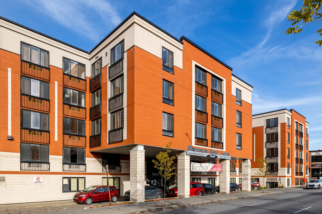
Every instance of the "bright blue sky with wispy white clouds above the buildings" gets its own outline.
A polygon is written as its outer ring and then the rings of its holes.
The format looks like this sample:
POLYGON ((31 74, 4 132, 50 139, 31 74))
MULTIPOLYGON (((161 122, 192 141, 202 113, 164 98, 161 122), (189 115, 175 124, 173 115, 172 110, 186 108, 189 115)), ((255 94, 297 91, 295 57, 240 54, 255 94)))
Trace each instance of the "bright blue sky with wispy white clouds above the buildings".
POLYGON ((253 114, 287 108, 305 116, 309 150, 322 150, 322 39, 318 28, 285 35, 302 1, 2 1, 0 16, 91 50, 136 11, 176 38, 182 35, 233 68, 253 88, 253 114))

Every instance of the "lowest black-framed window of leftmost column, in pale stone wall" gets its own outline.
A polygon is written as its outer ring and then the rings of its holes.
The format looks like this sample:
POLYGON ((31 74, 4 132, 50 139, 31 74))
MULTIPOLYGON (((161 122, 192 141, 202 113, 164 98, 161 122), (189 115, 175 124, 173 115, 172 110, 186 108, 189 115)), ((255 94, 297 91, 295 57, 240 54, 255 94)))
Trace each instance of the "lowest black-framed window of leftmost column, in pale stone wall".
POLYGON ((49 145, 20 143, 20 161, 49 162, 49 145))

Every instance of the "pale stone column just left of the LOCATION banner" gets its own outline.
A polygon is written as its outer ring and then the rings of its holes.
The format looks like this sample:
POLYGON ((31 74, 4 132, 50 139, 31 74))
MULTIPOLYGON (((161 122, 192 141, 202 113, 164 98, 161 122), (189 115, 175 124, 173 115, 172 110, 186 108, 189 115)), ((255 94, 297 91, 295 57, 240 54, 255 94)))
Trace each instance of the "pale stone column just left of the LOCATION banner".
POLYGON ((185 152, 178 156, 178 197, 190 197, 190 156, 185 152))

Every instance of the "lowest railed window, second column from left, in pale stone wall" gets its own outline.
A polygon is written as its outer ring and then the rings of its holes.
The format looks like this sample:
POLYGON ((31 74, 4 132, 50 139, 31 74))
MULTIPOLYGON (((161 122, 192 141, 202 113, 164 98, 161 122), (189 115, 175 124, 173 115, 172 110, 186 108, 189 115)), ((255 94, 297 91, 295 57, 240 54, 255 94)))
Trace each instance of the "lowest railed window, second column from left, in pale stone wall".
POLYGON ((62 147, 63 163, 85 163, 85 149, 75 147, 62 147))

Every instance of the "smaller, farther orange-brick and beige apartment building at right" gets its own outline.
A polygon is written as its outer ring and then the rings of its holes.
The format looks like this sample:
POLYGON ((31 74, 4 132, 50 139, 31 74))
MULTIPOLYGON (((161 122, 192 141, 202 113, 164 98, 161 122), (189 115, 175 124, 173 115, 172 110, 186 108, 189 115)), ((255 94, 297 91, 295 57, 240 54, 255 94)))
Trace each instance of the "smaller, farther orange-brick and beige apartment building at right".
POLYGON ((251 176, 261 186, 303 185, 308 174, 308 126, 306 118, 294 109, 280 109, 253 115, 253 160, 251 176), (265 180, 256 175, 257 158, 268 162, 265 180))

